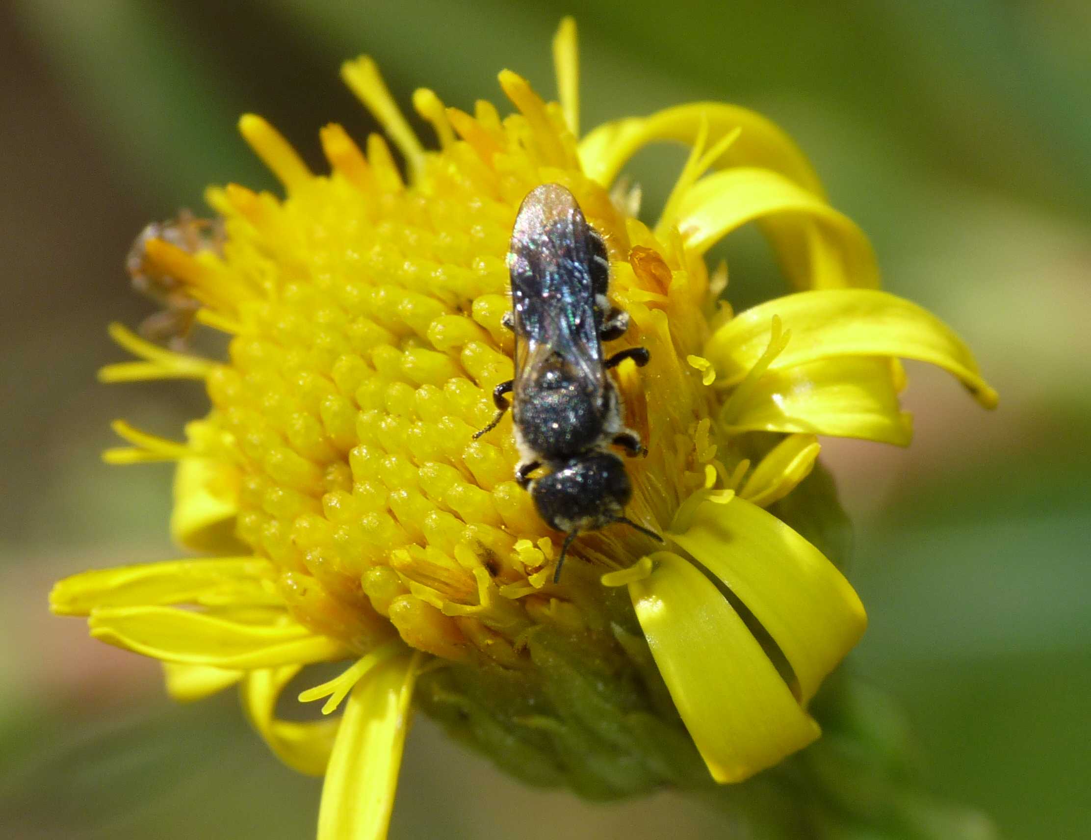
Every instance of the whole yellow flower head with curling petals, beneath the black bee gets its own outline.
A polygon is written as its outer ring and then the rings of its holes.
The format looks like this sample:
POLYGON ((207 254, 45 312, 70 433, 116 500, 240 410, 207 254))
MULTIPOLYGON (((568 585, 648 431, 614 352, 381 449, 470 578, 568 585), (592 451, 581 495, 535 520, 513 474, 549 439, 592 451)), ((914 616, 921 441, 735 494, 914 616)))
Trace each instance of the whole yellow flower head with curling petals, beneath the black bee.
POLYGON ((221 248, 163 236, 143 254, 200 304, 199 323, 230 336, 228 358, 111 327, 140 360, 105 381, 206 383, 212 409, 184 442, 119 421, 131 446, 106 457, 177 460, 171 531, 217 555, 76 575, 52 609, 163 660, 179 699, 239 683, 273 751, 325 773, 321 838, 385 835, 413 707, 524 779, 596 797, 740 781, 805 746, 818 736, 807 704, 865 617, 772 511, 812 471, 816 435, 908 443, 898 359, 938 364, 995 404, 954 333, 877 290, 867 240, 779 129, 698 103, 580 140, 571 21, 554 58, 560 104, 504 71, 504 118, 418 91, 436 151, 370 59, 346 63, 407 178, 381 136, 361 149, 327 125, 331 172, 314 175, 243 117, 286 196, 211 189, 221 248), (649 228, 636 192, 610 190, 658 141, 692 154, 649 228), (559 535, 513 480, 511 420, 472 440, 512 375, 501 319, 515 212, 546 182, 603 235, 611 293, 633 321, 623 341, 650 350, 646 368, 618 373, 650 451, 626 461, 627 515, 668 538, 660 550, 628 528, 584 535, 555 585, 559 535), (710 274, 704 254, 751 220, 798 291, 733 315, 727 269, 710 274), (344 715, 276 717, 305 665, 340 660, 300 699, 328 698, 328 715, 347 698, 344 715))

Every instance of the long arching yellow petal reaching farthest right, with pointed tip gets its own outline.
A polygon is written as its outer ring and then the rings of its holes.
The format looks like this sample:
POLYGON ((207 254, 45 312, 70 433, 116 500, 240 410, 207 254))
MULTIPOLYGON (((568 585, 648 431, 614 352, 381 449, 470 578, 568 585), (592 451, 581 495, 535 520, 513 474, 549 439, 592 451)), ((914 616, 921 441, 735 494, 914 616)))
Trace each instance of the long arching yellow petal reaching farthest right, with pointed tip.
POLYGON ((950 327, 915 303, 875 289, 801 291, 741 312, 716 331, 702 353, 716 365, 719 382, 745 379, 769 345, 774 315, 792 338, 770 370, 843 356, 916 359, 957 376, 984 407, 996 406, 996 392, 950 327))

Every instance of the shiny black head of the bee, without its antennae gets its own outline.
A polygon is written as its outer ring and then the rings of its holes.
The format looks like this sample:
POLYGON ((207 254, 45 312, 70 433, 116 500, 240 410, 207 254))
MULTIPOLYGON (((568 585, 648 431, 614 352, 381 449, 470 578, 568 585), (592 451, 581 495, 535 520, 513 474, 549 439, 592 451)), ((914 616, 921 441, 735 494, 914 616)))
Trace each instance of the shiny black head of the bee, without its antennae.
POLYGON ((616 521, 633 495, 625 465, 599 452, 567 461, 530 489, 538 514, 559 531, 594 531, 616 521))

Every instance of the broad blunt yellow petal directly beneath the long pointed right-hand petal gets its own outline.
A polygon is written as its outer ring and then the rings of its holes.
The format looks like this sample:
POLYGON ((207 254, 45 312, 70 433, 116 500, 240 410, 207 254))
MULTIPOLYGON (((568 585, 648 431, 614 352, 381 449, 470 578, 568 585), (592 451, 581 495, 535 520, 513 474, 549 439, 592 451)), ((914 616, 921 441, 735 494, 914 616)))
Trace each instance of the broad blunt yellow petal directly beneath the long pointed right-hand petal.
POLYGON ((729 433, 810 432, 908 446, 913 428, 898 404, 889 359, 824 359, 767 371, 724 406, 729 433))

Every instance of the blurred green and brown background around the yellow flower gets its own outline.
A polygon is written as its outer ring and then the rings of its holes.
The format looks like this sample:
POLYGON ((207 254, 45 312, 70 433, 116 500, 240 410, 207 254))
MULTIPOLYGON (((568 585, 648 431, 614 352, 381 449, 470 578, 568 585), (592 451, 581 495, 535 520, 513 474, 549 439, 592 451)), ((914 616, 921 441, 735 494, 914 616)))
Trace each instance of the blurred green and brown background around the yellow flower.
MULTIPOLYGON (((317 782, 280 767, 233 696, 168 703, 155 663, 50 617, 62 575, 175 554, 167 467, 107 468, 107 423, 177 434, 195 385, 96 384, 105 325, 152 311, 122 269, 203 185, 272 187, 235 133, 268 117, 315 166, 317 129, 373 125, 337 79, 374 56, 407 108, 428 85, 500 101, 509 67, 553 91, 580 27, 583 123, 693 99, 754 107, 811 155, 895 292, 975 349, 1002 407, 910 367, 909 451, 831 441, 872 626, 854 669, 904 707, 933 789, 1007 838, 1091 836, 1091 5, 1083 0, 16 0, 0 5, 3 497, 0 836, 307 838, 317 782)), ((427 132, 425 132, 427 136, 427 132)), ((637 159, 647 204, 681 153, 637 159)), ((735 303, 781 281, 727 247, 735 303)), ((526 790, 418 721, 395 838, 717 837, 662 795, 612 806, 526 790)))

